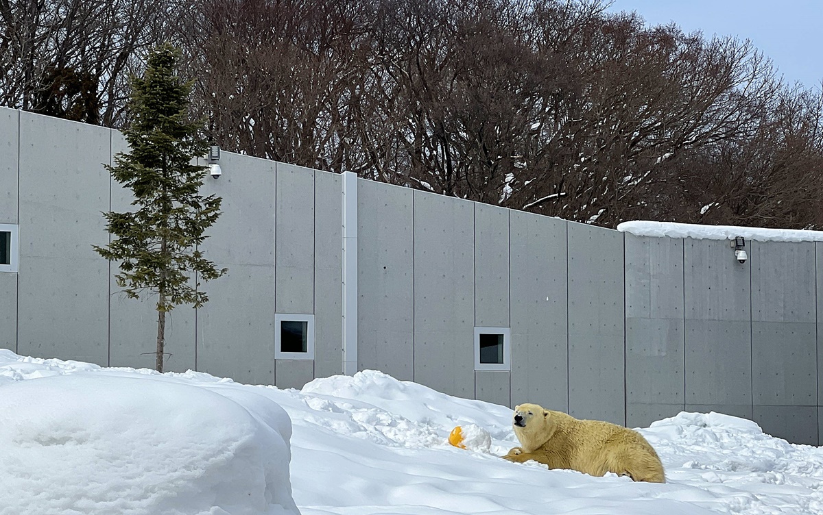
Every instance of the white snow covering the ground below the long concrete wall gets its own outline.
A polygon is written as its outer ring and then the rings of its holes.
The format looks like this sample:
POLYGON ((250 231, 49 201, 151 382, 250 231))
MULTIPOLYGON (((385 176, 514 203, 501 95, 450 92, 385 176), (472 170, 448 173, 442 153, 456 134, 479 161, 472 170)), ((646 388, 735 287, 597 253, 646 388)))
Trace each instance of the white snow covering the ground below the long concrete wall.
POLYGON ((510 416, 375 371, 297 391, 0 350, 0 513, 823 513, 823 450, 751 421, 642 429, 657 485, 506 462, 510 416), (447 443, 472 424, 491 448, 447 443))

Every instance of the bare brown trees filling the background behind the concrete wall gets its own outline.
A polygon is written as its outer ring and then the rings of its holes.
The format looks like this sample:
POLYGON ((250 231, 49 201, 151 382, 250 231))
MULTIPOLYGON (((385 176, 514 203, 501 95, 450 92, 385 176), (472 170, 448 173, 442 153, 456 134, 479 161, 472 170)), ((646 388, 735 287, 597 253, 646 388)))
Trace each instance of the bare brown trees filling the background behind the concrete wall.
POLYGON ((0 101, 128 122, 161 39, 225 149, 607 227, 823 228, 819 90, 599 0, 0 0, 0 101))

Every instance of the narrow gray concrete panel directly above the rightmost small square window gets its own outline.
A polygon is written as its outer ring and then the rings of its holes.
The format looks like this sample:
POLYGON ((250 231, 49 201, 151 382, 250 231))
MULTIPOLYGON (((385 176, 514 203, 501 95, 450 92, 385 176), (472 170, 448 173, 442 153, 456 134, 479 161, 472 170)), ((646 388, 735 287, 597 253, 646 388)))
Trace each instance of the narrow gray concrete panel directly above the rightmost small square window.
POLYGON ((509 209, 474 205, 474 324, 509 327, 509 209))

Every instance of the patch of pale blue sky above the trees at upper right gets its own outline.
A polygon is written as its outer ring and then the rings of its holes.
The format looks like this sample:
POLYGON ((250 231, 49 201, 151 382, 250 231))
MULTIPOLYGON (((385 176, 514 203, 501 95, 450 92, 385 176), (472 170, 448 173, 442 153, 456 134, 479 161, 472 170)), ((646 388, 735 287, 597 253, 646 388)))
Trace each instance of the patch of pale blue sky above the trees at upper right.
POLYGON ((650 25, 674 21, 707 38, 751 39, 783 80, 821 89, 823 0, 614 0, 609 11, 637 11, 650 25))

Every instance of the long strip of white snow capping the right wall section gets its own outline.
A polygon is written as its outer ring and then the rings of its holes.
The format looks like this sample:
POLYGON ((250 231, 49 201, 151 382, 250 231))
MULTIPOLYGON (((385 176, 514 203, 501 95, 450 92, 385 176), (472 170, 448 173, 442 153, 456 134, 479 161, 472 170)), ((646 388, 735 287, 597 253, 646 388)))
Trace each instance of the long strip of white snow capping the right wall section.
POLYGON ((757 241, 823 241, 823 231, 736 227, 733 225, 698 225, 696 223, 649 222, 635 220, 617 226, 621 232, 635 236, 694 238, 695 240, 731 240, 742 236, 757 241))

